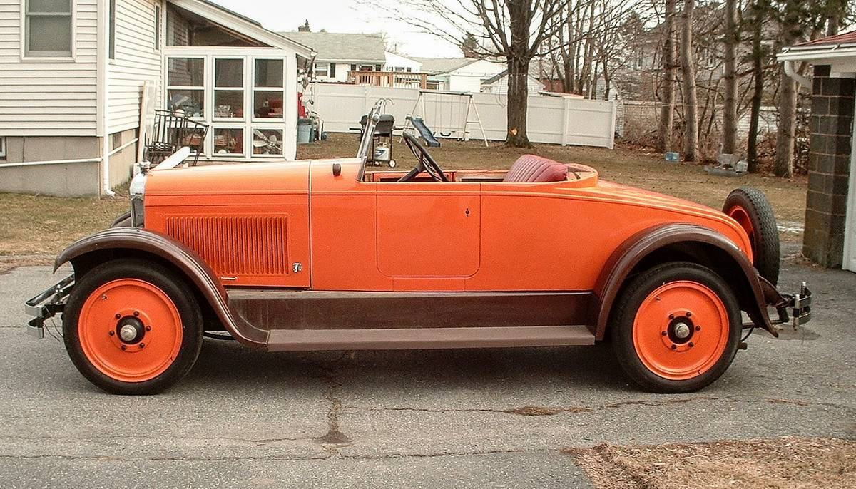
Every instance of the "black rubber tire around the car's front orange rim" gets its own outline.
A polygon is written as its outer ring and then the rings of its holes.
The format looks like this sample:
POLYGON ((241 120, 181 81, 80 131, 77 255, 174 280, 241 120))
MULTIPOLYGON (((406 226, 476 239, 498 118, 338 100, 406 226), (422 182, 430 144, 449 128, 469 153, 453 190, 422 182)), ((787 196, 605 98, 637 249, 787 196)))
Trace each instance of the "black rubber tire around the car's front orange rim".
MULTIPOLYGON (((127 307, 134 308, 134 304, 128 304, 127 307)), ((109 322, 105 322, 107 329, 110 326, 109 322)), ((181 380, 193 367, 202 347, 203 322, 193 292, 179 276, 158 263, 121 259, 99 265, 77 281, 62 314, 62 333, 68 356, 80 374, 92 384, 111 394, 149 395, 163 392, 181 380), (100 286, 122 279, 144 280, 157 286, 175 304, 181 317, 180 350, 169 367, 150 380, 130 382, 110 377, 90 361, 80 345, 78 322, 86 299, 100 286)))

